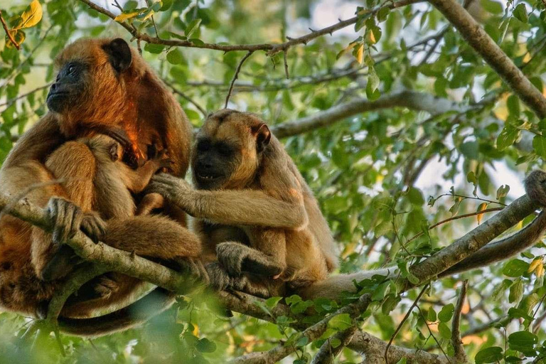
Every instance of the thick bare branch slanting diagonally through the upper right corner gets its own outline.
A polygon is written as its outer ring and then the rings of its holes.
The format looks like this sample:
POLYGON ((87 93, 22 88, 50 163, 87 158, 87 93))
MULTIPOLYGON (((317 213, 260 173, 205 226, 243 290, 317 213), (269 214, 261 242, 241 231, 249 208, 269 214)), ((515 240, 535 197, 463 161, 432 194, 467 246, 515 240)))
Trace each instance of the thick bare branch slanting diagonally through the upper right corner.
POLYGON ((546 98, 461 4, 454 0, 429 0, 429 2, 444 14, 461 36, 540 119, 546 117, 546 98))

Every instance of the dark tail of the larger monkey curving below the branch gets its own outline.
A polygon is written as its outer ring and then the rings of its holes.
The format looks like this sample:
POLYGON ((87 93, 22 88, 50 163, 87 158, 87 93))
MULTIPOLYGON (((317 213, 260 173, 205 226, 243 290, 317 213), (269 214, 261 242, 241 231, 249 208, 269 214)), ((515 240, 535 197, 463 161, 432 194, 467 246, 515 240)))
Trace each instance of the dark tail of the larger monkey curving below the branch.
POLYGON ((111 314, 97 316, 90 319, 70 319, 60 316, 59 330, 75 336, 97 337, 124 331, 145 323, 149 319, 171 307, 176 294, 161 287, 111 314))

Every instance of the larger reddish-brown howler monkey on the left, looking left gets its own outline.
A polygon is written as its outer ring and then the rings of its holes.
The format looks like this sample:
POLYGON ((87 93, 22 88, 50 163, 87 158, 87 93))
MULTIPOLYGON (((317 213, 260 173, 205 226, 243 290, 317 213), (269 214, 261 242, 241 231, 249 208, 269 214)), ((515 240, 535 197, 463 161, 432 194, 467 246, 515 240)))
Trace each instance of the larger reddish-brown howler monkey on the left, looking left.
MULTIPOLYGON (((65 178, 65 183, 34 188, 26 196, 29 203, 47 206, 52 234, 9 215, 0 220, 0 304, 25 314, 39 311, 62 283, 62 279, 41 279, 60 243, 79 228, 95 240, 102 235, 100 215, 92 212, 95 156, 75 139, 95 134, 116 137, 111 132, 122 129, 131 141, 127 156, 136 156, 127 162, 138 166, 139 161, 148 159, 149 145, 168 149, 171 171, 178 177, 187 171, 191 146, 191 125, 178 102, 122 39, 75 41, 58 55, 55 66, 58 75, 47 97, 50 112, 23 134, 0 169, 1 191, 12 196, 33 183, 52 181, 55 176, 65 178), (46 163, 50 168, 45 168, 46 163)), ((181 210, 167 206, 165 212, 185 224, 181 210)), ((143 252, 146 256, 200 255, 200 243, 193 234, 160 216, 110 220, 102 241, 129 251, 146 249, 150 253, 143 252)), ((139 289, 137 282, 127 277, 115 294, 102 301, 92 300, 87 306, 80 303, 73 310, 65 306, 61 328, 98 335, 141 321, 140 316, 135 320, 128 316, 133 305, 105 316, 105 321, 66 319, 127 304, 139 289)), ((164 297, 162 307, 173 302, 173 295, 163 290, 157 290, 156 295, 164 297)), ((138 302, 134 305, 141 306, 138 302)))

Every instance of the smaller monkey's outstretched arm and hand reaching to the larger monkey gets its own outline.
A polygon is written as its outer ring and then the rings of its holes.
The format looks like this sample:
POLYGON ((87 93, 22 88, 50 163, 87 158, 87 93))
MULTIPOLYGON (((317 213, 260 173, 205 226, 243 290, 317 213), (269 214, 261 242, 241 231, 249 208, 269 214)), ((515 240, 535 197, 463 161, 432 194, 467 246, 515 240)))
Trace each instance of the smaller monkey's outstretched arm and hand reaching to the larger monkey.
POLYGON ((186 181, 162 173, 152 178, 147 191, 160 193, 195 218, 225 225, 300 229, 308 223, 302 200, 280 200, 257 190, 194 190, 186 181))

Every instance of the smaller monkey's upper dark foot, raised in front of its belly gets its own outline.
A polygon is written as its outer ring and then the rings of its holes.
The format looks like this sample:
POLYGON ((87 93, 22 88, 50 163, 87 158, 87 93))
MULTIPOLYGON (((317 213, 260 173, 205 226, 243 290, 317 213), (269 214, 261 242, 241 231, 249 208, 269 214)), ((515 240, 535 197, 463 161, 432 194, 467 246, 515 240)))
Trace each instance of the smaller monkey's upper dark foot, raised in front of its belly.
POLYGON ((284 270, 279 264, 272 262, 267 255, 238 242, 222 242, 216 245, 216 255, 218 262, 232 277, 238 277, 242 272, 249 272, 272 278, 279 277, 284 270))

